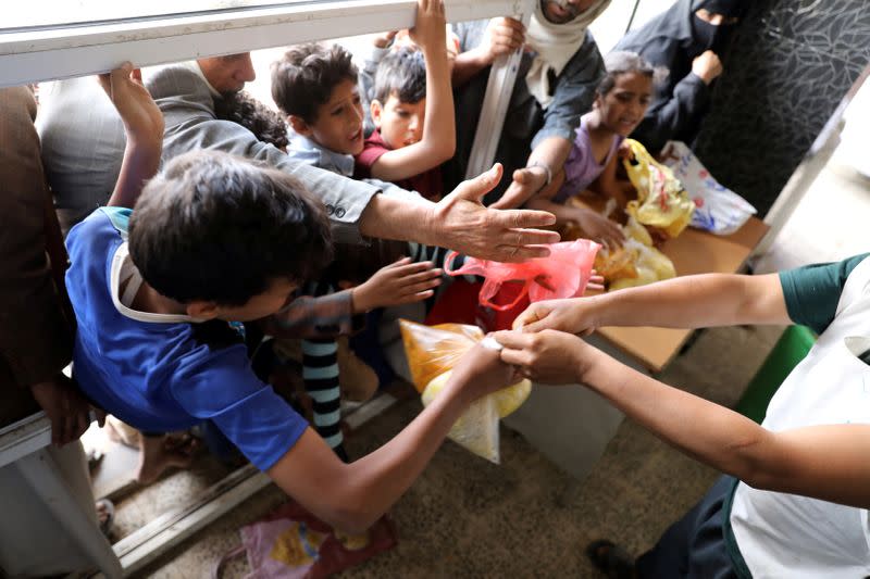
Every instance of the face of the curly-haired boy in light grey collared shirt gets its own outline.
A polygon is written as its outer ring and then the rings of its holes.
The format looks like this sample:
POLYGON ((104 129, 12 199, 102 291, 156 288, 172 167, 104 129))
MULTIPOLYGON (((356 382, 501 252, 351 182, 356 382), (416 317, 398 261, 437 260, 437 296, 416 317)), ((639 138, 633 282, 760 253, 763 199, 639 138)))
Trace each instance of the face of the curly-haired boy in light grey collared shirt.
POLYGON ((318 108, 316 119, 309 124, 290 115, 290 126, 321 147, 357 155, 362 152, 362 101, 357 83, 346 78, 333 89, 330 100, 318 108))

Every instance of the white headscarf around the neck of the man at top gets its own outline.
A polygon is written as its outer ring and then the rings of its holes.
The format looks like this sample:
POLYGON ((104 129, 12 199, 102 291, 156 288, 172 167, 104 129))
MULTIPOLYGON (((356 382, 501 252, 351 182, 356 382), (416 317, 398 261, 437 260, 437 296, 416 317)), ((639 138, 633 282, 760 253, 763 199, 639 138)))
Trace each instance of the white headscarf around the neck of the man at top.
POLYGON ((525 75, 529 92, 546 109, 552 97, 550 96, 549 71, 556 75, 562 70, 576 53, 586 38, 586 28, 610 4, 610 0, 596 0, 594 4, 577 14, 564 24, 552 24, 544 15, 540 2, 535 2, 535 12, 525 33, 525 43, 537 55, 532 61, 532 67, 525 75))

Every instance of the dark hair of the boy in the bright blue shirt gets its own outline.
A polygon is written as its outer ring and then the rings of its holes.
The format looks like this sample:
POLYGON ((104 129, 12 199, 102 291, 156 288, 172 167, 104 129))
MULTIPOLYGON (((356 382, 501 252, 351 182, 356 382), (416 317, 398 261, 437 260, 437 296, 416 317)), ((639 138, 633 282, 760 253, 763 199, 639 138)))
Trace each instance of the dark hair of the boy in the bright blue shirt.
POLYGON ((294 176, 217 151, 170 161, 142 190, 129 254, 161 294, 243 305, 333 256, 322 203, 294 176))

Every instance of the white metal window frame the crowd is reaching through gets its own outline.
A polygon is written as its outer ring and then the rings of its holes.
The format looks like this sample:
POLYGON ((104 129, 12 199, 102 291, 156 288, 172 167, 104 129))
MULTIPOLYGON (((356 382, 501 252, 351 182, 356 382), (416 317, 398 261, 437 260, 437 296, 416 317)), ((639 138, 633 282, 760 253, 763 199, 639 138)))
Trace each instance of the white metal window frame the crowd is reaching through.
MULTIPOLYGON (((537 0, 445 0, 449 22, 514 16, 525 24, 537 0)), ((52 26, 0 32, 0 88, 104 73, 124 61, 151 66, 408 28, 413 25, 415 0, 358 0, 293 3, 134 18, 92 25, 52 26)), ((504 56, 492 67, 471 152, 470 176, 488 168, 513 90, 521 53, 504 56)), ((361 424, 395 400, 382 394, 349 420, 361 424)), ((72 499, 60 491, 62 476, 46 466, 50 424, 40 413, 0 429, 0 468, 16 468, 27 480, 45 480, 40 494, 58 503, 55 515, 105 577, 141 569, 216 517, 269 483, 268 477, 244 467, 209 489, 204 496, 109 545, 72 499)))

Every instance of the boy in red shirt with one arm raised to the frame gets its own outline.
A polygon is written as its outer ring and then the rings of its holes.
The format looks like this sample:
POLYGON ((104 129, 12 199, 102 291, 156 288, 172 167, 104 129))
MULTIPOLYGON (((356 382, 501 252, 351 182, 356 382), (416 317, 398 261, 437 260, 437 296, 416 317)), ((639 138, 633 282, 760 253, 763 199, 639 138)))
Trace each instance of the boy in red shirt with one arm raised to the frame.
POLYGON ((370 112, 375 130, 356 158, 358 178, 375 177, 437 201, 440 164, 456 151, 453 95, 439 0, 421 0, 414 47, 387 53, 377 65, 370 112))

